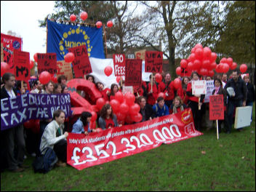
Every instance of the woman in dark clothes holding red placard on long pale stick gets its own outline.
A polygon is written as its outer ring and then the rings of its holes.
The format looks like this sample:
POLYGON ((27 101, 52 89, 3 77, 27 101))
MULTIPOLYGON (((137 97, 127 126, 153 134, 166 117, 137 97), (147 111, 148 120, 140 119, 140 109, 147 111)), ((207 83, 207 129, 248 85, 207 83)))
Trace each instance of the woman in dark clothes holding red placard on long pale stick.
MULTIPOLYGON (((226 100, 227 100, 227 92, 226 90, 223 88, 223 83, 222 81, 220 81, 220 79, 215 79, 214 81, 215 84, 215 89, 212 91, 212 95, 223 95, 223 103, 224 103, 224 110, 226 108, 226 100)), ((227 121, 227 113, 226 110, 224 111, 224 121, 223 120, 219 120, 218 121, 218 132, 221 132, 221 124, 223 122, 227 121)), ((226 125, 227 126, 227 125, 226 125)), ((226 133, 231 133, 230 130, 226 130, 226 133)))

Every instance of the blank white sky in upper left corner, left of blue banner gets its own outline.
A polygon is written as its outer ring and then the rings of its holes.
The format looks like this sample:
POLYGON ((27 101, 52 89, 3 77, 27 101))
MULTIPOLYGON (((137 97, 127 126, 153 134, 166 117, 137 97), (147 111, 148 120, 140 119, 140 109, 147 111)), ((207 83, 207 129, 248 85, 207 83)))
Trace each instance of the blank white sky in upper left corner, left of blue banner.
POLYGON ((39 28, 39 21, 54 12, 54 1, 1 1, 1 33, 17 33, 23 39, 23 51, 46 52, 46 28, 39 28))

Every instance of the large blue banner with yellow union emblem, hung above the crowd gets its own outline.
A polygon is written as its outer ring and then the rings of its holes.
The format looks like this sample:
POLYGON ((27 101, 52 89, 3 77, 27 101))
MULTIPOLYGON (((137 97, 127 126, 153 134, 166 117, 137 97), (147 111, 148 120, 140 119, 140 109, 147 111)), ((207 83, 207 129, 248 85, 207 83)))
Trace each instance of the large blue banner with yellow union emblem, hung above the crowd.
POLYGON ((47 52, 56 52, 64 60, 68 48, 86 45, 89 57, 105 59, 103 29, 65 25, 47 20, 47 52))

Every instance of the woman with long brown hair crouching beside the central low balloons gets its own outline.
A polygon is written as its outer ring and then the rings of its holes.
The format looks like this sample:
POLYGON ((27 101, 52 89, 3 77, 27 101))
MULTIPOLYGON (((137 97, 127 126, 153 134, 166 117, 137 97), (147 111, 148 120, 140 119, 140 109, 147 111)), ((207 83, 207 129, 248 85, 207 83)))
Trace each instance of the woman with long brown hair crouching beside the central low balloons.
POLYGON ((118 124, 116 115, 113 113, 111 105, 105 104, 100 111, 99 127, 101 129, 111 129, 113 127, 121 127, 118 124))

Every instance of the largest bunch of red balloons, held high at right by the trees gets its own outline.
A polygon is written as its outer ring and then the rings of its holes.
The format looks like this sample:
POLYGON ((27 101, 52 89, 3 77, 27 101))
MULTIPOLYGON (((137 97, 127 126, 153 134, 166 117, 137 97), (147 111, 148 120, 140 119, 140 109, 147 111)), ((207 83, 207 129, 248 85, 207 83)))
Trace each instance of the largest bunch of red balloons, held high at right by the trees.
POLYGON ((214 76, 213 70, 217 66, 216 58, 217 54, 212 52, 209 47, 196 44, 191 49, 188 59, 180 61, 180 67, 176 68, 176 73, 179 76, 191 76, 192 71, 197 71, 202 76, 214 76))

